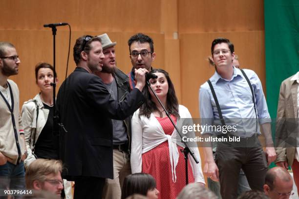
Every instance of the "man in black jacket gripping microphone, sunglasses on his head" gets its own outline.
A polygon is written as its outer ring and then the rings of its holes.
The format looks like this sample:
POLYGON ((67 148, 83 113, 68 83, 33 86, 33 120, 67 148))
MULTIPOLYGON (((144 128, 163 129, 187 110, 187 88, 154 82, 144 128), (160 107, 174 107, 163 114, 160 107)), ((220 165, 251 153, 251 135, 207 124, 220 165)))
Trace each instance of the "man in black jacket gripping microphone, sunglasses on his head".
POLYGON ((101 38, 82 36, 73 56, 77 67, 62 83, 57 95, 61 124, 60 158, 66 167, 64 179, 75 181, 74 197, 99 199, 105 179, 113 179, 113 126, 144 102, 146 69, 135 69, 135 88, 124 100, 114 99, 101 78, 105 56, 101 38))

